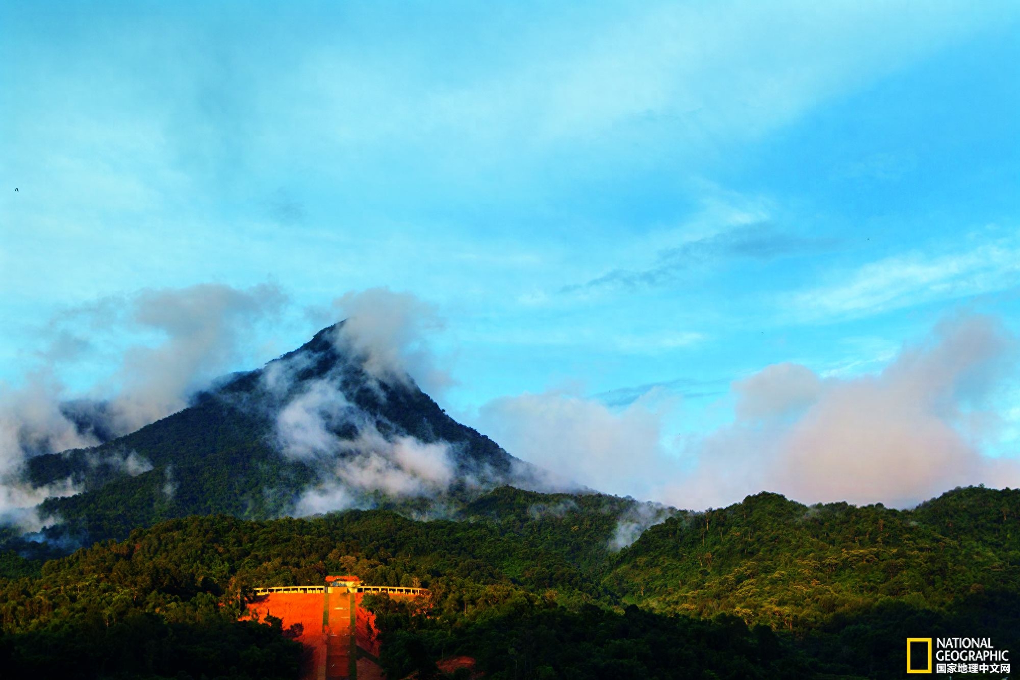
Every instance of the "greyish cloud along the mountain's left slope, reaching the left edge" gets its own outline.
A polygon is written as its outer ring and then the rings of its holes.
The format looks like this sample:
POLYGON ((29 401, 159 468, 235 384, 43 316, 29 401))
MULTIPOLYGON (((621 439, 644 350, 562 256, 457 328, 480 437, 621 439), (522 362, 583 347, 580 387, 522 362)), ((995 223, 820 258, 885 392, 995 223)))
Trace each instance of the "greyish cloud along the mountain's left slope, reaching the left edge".
MULTIPOLYGON (((285 302, 270 285, 202 284, 105 298, 52 320, 49 333, 58 350, 68 342, 91 346, 90 333, 100 329, 141 331, 157 339, 126 347, 115 374, 88 394, 69 394, 58 378, 73 358, 61 351, 41 352, 44 365, 21 386, 0 384, 0 514, 23 511, 26 523, 38 524, 32 506, 80 488, 70 480, 32 488, 21 479, 29 457, 96 446, 184 408, 193 394, 232 368, 252 324, 274 315, 285 302)), ((129 472, 148 465, 129 463, 129 472)))

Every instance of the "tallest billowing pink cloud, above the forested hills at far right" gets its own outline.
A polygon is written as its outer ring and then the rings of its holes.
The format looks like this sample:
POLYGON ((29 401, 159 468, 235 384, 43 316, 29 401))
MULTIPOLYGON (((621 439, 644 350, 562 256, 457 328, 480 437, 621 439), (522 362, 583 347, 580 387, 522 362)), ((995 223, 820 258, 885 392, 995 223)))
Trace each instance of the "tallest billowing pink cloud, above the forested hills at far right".
POLYGON ((962 317, 878 374, 820 381, 804 367, 768 367, 734 385, 737 419, 688 445, 692 474, 660 497, 703 506, 764 488, 905 506, 959 485, 1015 486, 1017 462, 982 454, 997 420, 988 399, 1013 377, 1015 342, 994 319, 962 317))

